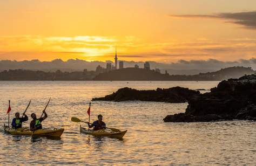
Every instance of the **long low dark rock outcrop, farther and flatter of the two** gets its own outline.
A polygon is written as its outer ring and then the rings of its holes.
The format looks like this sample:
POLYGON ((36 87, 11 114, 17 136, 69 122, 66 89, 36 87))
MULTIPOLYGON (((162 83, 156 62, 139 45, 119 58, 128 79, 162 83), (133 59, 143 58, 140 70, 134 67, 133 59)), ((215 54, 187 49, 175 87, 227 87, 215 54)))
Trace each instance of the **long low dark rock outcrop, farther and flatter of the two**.
POLYGON ((156 90, 139 91, 132 88, 120 88, 113 94, 106 95, 103 98, 93 98, 92 101, 157 101, 157 102, 171 102, 183 103, 187 102, 193 95, 200 94, 199 91, 193 91, 188 88, 172 87, 168 89, 157 88, 156 90))

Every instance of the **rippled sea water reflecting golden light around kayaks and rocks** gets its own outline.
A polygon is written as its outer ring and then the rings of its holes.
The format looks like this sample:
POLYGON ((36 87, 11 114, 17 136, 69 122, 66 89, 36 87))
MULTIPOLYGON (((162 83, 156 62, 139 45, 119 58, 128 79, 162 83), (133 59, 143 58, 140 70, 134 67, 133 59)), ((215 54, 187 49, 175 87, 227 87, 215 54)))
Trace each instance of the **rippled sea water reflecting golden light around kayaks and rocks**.
MULTIPOLYGON (((90 100, 121 87, 137 89, 210 89, 217 81, 0 81, 0 123, 7 122, 6 109, 11 100, 11 117, 27 111, 41 115, 49 97, 48 119, 43 127, 62 127, 60 140, 0 133, 1 164, 51 165, 254 165, 256 162, 256 123, 222 121, 164 123, 167 114, 185 112, 187 103, 93 101, 91 120, 102 114, 107 126, 128 130, 124 140, 80 134, 76 116, 87 120, 90 100)), ((29 119, 30 121, 30 119, 29 119)), ((81 125, 85 126, 83 123, 81 125)), ((25 122, 23 126, 29 126, 25 122)))

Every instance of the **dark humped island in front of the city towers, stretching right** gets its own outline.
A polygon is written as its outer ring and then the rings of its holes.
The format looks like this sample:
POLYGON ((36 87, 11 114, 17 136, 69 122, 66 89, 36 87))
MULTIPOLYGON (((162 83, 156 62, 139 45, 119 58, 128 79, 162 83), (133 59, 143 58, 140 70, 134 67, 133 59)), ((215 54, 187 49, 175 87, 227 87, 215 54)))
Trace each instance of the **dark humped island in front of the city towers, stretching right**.
POLYGON ((245 74, 255 73, 251 67, 228 67, 216 72, 199 73, 196 75, 169 75, 144 68, 122 68, 107 73, 98 74, 93 80, 112 81, 220 81, 229 78, 239 78, 245 74))

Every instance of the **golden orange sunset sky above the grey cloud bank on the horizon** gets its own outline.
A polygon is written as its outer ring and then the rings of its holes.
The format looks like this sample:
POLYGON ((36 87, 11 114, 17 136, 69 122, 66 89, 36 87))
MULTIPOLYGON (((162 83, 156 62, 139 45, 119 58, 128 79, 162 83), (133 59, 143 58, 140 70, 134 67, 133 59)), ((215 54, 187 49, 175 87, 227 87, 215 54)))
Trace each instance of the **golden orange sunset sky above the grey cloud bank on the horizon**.
POLYGON ((256 58, 255 0, 0 0, 0 60, 256 58))

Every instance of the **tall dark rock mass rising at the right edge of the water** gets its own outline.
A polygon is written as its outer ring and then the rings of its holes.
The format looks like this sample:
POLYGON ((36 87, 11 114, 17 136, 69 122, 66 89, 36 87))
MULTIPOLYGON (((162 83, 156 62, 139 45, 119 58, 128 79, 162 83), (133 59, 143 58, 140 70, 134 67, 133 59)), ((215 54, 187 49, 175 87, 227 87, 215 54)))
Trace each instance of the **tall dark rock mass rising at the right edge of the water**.
POLYGON ((188 100, 185 113, 167 115, 165 122, 256 120, 256 75, 221 81, 211 92, 188 100))

